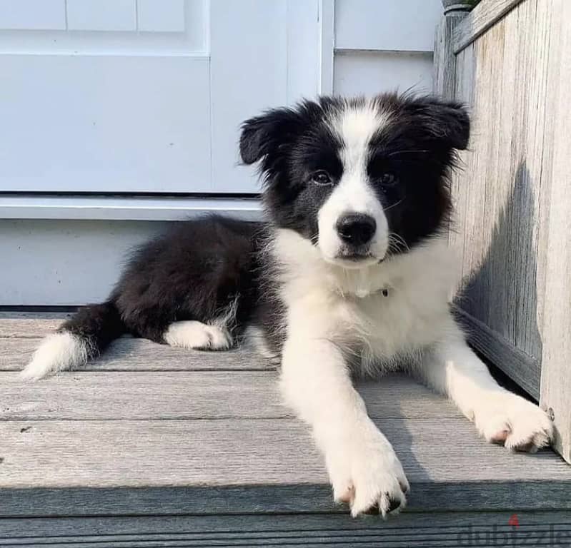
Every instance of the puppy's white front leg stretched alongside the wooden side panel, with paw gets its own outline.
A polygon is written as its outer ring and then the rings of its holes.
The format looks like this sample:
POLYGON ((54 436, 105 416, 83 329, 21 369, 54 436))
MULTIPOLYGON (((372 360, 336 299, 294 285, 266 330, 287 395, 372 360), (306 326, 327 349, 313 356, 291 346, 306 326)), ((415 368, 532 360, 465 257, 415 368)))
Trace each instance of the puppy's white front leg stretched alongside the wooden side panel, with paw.
POLYGON ((549 444, 553 429, 549 417, 497 384, 453 320, 445 339, 423 353, 421 375, 447 394, 489 442, 532 452, 549 444))

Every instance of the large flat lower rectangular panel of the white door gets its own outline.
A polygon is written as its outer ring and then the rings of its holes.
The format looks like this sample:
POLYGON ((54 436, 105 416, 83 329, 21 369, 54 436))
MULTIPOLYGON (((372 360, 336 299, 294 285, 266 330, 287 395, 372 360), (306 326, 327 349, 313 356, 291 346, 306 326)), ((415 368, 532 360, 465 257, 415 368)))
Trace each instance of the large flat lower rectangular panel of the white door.
POLYGON ((0 148, 2 190, 209 190, 208 59, 14 55, 0 62, 12 75, 0 104, 26 105, 0 116, 10 128, 0 148))

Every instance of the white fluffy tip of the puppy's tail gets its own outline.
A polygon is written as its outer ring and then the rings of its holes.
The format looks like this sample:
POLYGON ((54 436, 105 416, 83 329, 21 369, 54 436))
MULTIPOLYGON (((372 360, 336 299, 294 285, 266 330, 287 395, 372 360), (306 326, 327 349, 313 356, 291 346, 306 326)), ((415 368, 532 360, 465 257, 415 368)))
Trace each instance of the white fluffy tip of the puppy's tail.
POLYGON ((85 365, 88 357, 85 340, 69 332, 48 335, 20 373, 26 380, 38 380, 59 371, 85 365))

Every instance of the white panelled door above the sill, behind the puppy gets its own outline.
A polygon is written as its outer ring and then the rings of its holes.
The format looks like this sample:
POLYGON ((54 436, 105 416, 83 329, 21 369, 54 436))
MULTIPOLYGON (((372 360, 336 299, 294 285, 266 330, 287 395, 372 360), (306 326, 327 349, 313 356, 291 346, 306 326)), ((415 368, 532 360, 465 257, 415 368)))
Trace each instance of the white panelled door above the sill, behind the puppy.
POLYGON ((239 124, 319 91, 320 5, 0 0, 0 191, 256 192, 239 124))

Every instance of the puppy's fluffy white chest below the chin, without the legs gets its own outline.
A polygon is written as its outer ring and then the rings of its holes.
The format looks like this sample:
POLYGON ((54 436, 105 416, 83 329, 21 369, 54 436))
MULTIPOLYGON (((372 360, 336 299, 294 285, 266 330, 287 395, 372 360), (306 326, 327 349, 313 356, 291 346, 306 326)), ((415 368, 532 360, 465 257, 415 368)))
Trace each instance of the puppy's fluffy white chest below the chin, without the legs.
POLYGON ((349 345, 349 354, 371 362, 394 362, 436 342, 450 321, 455 281, 447 249, 437 244, 368 270, 292 277, 282 293, 288 333, 349 345))

